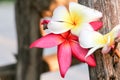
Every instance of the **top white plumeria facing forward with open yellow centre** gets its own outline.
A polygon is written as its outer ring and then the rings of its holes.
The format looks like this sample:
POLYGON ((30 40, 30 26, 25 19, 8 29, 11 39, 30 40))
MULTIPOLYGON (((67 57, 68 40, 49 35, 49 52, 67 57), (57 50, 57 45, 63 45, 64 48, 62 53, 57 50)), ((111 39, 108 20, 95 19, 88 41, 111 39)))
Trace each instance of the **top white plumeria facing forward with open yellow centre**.
POLYGON ((59 6, 54 10, 48 29, 55 34, 71 30, 78 36, 82 28, 93 30, 89 22, 99 20, 101 17, 102 13, 97 10, 70 2, 69 8, 59 6))

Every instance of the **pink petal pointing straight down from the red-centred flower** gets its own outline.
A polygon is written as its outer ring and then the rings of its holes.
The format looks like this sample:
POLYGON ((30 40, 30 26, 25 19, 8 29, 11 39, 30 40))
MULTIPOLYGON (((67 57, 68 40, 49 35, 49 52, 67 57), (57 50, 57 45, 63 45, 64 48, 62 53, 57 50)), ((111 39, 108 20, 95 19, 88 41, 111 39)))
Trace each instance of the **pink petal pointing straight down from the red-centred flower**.
POLYGON ((65 76, 68 68, 71 65, 71 48, 68 41, 58 46, 58 63, 60 68, 60 74, 62 77, 65 76))

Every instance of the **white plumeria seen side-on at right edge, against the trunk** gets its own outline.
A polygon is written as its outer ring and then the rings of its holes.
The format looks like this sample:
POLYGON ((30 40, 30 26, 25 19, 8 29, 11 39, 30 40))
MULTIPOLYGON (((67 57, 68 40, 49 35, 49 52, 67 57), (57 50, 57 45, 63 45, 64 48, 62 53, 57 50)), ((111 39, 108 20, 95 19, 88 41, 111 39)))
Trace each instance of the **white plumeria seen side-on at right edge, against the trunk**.
POLYGON ((83 48, 91 48, 86 55, 88 57, 99 48, 102 48, 102 53, 108 53, 118 37, 120 37, 120 24, 105 35, 97 31, 82 30, 79 42, 83 48))

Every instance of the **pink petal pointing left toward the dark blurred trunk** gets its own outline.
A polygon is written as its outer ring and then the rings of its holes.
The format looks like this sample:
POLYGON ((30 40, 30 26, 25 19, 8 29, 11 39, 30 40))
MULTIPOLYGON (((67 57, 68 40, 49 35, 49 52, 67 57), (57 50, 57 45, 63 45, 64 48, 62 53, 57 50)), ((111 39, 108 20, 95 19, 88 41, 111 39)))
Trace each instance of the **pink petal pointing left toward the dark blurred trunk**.
POLYGON ((30 48, 38 47, 38 48, 50 48, 59 45, 64 41, 64 38, 59 34, 48 34, 43 36, 42 38, 34 41, 30 48))

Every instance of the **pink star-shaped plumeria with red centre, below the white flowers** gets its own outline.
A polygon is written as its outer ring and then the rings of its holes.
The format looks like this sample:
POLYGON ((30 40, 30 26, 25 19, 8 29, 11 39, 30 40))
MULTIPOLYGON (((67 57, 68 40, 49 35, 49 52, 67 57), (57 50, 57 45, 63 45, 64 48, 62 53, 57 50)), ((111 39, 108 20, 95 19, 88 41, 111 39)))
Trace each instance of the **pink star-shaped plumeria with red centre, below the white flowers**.
POLYGON ((78 37, 72 35, 70 31, 62 34, 50 33, 33 42, 30 48, 50 48, 54 46, 58 46, 58 63, 62 77, 65 76, 71 65, 72 55, 79 61, 86 62, 90 66, 96 66, 93 56, 89 56, 85 60, 84 57, 88 50, 80 47, 78 37))

